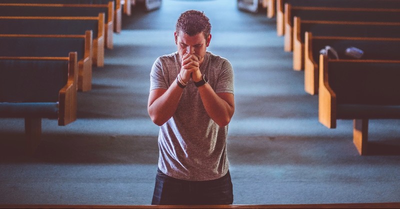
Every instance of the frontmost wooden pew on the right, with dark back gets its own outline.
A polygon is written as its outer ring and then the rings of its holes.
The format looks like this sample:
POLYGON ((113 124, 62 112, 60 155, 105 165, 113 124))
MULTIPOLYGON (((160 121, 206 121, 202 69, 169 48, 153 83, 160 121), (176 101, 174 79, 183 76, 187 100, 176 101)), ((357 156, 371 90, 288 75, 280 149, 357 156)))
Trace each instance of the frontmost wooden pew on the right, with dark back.
POLYGON ((319 60, 319 122, 352 119, 353 143, 367 154, 368 119, 400 118, 400 60, 319 60))

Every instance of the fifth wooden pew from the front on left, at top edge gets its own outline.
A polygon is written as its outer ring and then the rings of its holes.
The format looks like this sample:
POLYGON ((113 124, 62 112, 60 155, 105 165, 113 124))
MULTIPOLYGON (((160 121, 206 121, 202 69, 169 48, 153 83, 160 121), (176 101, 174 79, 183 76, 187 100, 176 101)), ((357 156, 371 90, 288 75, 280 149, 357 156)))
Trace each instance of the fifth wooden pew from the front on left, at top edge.
POLYGON ((108 6, 109 1, 114 3, 114 31, 120 32, 122 25, 122 7, 120 0, 0 0, 0 3, 103 4, 108 6))

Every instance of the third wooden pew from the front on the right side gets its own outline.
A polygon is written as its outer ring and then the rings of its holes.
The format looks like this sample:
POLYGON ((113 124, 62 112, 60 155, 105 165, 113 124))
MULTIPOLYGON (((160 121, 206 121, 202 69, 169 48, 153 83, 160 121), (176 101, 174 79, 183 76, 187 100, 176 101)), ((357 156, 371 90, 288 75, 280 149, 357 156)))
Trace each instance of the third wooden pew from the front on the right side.
POLYGON ((400 22, 320 21, 293 19, 293 69, 304 69, 304 34, 315 36, 400 37, 400 22))

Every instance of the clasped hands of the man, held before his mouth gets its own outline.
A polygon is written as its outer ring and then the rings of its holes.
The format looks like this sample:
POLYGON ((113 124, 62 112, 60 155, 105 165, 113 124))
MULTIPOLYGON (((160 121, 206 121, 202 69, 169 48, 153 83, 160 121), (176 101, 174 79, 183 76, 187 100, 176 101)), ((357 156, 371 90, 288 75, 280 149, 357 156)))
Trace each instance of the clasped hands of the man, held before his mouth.
POLYGON ((197 82, 201 80, 201 72, 200 72, 200 61, 199 57, 185 53, 181 58, 182 67, 180 68, 180 77, 184 83, 190 80, 190 78, 197 82))

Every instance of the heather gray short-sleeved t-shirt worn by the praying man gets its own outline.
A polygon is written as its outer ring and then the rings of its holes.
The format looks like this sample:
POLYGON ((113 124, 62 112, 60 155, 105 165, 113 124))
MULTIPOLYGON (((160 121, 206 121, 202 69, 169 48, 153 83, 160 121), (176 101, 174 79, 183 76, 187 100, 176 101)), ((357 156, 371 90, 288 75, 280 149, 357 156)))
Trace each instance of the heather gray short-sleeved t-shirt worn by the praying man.
MULTIPOLYGON (((150 72, 150 90, 167 89, 180 71, 177 52, 158 57, 150 72)), ((207 51, 200 71, 216 92, 233 93, 230 62, 207 51)), ((177 110, 160 126, 158 134, 159 169, 184 180, 212 180, 229 168, 226 155, 228 126, 219 127, 206 113, 193 81, 183 88, 177 110)))

